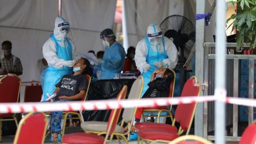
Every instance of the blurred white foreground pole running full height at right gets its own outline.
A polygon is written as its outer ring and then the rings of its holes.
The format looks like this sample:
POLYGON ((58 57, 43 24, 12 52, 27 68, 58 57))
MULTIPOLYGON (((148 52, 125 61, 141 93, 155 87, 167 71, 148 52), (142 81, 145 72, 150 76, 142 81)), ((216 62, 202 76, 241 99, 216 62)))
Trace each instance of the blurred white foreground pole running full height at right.
POLYGON ((226 1, 216 2, 216 59, 215 59, 215 136, 216 144, 225 144, 225 97, 226 97, 226 1), (217 124, 218 123, 218 124, 217 124))

